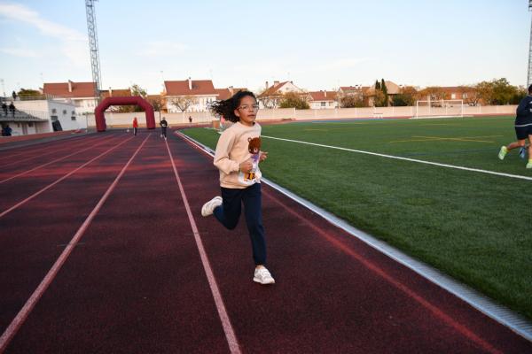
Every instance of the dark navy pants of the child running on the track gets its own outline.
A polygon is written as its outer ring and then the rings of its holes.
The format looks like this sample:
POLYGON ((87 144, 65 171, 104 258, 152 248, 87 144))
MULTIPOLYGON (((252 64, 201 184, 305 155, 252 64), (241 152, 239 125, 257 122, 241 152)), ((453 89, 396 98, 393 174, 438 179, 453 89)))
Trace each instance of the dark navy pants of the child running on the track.
POLYGON ((262 226, 261 183, 255 183, 245 189, 226 189, 222 187, 223 204, 214 210, 216 219, 224 227, 232 230, 237 227, 244 204, 247 230, 251 238, 255 265, 266 264, 266 239, 262 226))

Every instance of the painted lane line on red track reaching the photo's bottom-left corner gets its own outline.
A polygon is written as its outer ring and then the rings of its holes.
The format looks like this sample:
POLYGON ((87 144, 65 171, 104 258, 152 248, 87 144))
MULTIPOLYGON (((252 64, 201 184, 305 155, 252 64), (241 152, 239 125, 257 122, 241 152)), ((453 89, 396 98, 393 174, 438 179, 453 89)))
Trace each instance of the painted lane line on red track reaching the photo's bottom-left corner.
MULTIPOLYGON (((20 327, 24 324, 24 321, 27 319, 27 316, 34 309, 35 304, 37 304, 37 302, 39 301, 41 296, 43 296, 44 291, 46 291, 46 289, 48 289, 48 287, 51 284, 51 281, 53 281, 54 278, 56 277, 56 275, 59 273, 59 270, 61 269, 61 267, 65 263, 66 258, 68 258, 68 256, 70 256, 70 253, 72 253, 72 250, 74 250, 74 247, 75 247, 76 243, 82 238, 82 235, 85 233, 85 231, 89 227, 90 222, 92 222, 92 219, 94 219, 96 214, 98 214, 98 212, 101 209, 102 205, 104 203, 106 203, 107 197, 111 194, 111 192, 113 191, 114 187, 116 187, 116 185, 118 184, 118 181, 120 181, 120 179, 121 179, 121 176, 126 172, 126 169, 128 168, 129 164, 131 164, 131 161, 133 161, 133 158, 135 158, 137 156, 138 151, 144 146, 146 140, 148 140, 150 135, 145 137, 144 142, 142 142, 140 144, 140 146, 137 148, 137 150, 135 151, 133 156, 131 156, 131 158, 129 158, 128 163, 123 166, 123 168, 121 169, 121 172, 118 173, 118 175, 114 179, 114 181, 111 184, 111 186, 109 186, 109 188, 106 190, 106 193, 104 194, 104 196, 101 197, 101 199, 99 200, 98 204, 96 204, 96 206, 94 207, 92 212, 90 212, 90 214, 87 217, 87 219, 85 219, 85 221, 83 221, 82 226, 77 230, 77 232, 75 233, 75 235, 72 238, 72 240, 70 242, 68 242, 68 244, 66 245, 65 250, 63 250, 63 252, 60 254, 58 260, 56 260, 54 265, 51 266, 50 271, 48 271, 46 276, 44 276, 43 281, 41 281, 41 283, 39 284, 37 289, 35 289, 33 294, 31 296, 29 296, 29 299, 27 299, 26 304, 24 304, 24 306, 22 307, 20 312, 12 320, 11 324, 9 325, 9 327, 7 327, 5 329, 4 334, 0 337, 0 353, 4 352, 4 350, 6 349, 7 345, 9 344, 9 342, 11 342, 13 336, 17 334, 17 332, 19 331, 20 327)), ((131 138, 129 138, 129 139, 131 139, 131 138)), ((124 142, 127 142, 127 140, 124 141, 124 142)), ((121 142, 121 143, 123 143, 123 142, 121 142)), ((119 145, 116 145, 116 146, 119 146, 119 145)))

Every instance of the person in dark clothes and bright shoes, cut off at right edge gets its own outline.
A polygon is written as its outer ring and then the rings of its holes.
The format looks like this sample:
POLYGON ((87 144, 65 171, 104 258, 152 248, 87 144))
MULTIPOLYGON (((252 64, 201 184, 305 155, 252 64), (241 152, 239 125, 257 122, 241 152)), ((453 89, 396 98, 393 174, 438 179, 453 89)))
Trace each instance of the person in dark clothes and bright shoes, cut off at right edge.
POLYGON ((508 146, 501 146, 498 157, 505 159, 508 151, 516 148, 525 148, 528 139, 528 164, 527 168, 532 169, 532 85, 528 86, 528 95, 520 101, 515 117, 516 142, 511 142, 508 146))

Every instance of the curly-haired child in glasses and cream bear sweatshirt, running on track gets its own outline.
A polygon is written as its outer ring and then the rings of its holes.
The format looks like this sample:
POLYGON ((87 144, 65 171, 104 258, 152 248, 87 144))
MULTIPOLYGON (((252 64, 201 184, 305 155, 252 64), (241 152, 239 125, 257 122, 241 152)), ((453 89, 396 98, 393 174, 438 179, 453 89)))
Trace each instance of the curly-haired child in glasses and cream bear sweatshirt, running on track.
POLYGON ((201 208, 230 230, 239 223, 242 204, 251 239, 255 282, 273 284, 266 268, 266 239, 262 226, 261 170, 259 163, 268 157, 260 150, 261 126, 255 122, 259 106, 252 92, 239 91, 227 100, 211 105, 217 116, 235 124, 225 129, 216 144, 214 164, 220 170, 222 196, 215 196, 201 208))

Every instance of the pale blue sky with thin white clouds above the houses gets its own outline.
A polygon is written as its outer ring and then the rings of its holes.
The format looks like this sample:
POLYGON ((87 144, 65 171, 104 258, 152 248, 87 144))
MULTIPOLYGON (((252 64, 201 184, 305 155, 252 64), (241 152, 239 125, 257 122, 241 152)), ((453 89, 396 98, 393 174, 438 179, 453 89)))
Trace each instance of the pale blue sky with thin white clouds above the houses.
MULTIPOLYGON (((212 79, 216 88, 525 85, 526 0, 126 1, 96 3, 102 89, 212 79)), ((92 81, 83 0, 0 0, 6 94, 92 81)), ((3 88, 0 88, 3 89, 3 88)), ((2 94, 2 92, 0 92, 2 94)))

